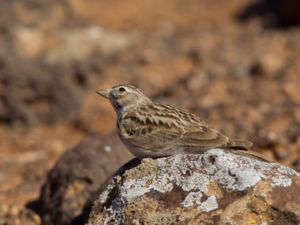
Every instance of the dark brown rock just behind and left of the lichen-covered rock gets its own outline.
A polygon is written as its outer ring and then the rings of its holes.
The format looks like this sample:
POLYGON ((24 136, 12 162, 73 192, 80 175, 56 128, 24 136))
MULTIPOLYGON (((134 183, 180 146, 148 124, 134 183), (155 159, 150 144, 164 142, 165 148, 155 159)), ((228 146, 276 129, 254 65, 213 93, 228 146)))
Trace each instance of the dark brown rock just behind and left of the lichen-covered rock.
POLYGON ((43 225, 84 224, 102 183, 130 158, 117 135, 92 135, 49 172, 36 209, 43 225))

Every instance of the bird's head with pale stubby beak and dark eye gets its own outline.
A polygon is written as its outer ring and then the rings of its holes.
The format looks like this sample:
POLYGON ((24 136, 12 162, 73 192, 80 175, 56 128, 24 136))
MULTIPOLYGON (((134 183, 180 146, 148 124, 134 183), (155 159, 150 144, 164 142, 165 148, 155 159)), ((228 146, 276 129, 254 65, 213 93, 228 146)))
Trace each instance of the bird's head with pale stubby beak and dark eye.
POLYGON ((107 98, 117 113, 131 107, 134 108, 135 106, 152 102, 138 88, 132 85, 118 85, 108 89, 100 89, 96 92, 107 98))

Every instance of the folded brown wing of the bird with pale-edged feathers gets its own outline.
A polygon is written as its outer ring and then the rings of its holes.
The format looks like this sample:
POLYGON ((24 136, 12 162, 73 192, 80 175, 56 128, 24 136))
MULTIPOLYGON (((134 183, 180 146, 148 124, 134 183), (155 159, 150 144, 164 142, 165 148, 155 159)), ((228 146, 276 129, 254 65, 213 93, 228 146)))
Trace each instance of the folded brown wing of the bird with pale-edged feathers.
POLYGON ((151 151, 163 149, 208 149, 224 146, 228 138, 204 125, 189 128, 176 118, 166 118, 155 114, 142 116, 128 113, 122 121, 121 132, 134 147, 151 151), (122 131, 123 130, 123 131, 122 131))

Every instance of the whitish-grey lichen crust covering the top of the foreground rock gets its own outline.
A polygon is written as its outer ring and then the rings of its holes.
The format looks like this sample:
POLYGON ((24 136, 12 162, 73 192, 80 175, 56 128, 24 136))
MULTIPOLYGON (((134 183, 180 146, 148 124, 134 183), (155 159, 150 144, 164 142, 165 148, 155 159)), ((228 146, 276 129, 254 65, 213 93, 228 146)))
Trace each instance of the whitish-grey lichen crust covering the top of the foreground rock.
MULTIPOLYGON (((117 186, 117 195, 111 199, 106 212, 122 224, 121 206, 147 193, 162 195, 171 193, 175 187, 184 193, 179 207, 194 207, 203 212, 218 209, 218 196, 209 191, 210 184, 216 183, 224 190, 233 192, 253 188, 260 181, 272 187, 288 187, 296 171, 277 163, 263 162, 222 149, 211 149, 198 155, 174 155, 156 160, 147 159, 142 164, 117 176, 115 183, 101 194, 102 204, 107 202, 109 192, 117 186), (145 169, 151 164, 149 170, 145 169), (143 168, 143 169, 140 169, 143 168), (134 172, 132 172, 134 171, 134 172)), ((108 220, 109 221, 109 220, 108 220)))

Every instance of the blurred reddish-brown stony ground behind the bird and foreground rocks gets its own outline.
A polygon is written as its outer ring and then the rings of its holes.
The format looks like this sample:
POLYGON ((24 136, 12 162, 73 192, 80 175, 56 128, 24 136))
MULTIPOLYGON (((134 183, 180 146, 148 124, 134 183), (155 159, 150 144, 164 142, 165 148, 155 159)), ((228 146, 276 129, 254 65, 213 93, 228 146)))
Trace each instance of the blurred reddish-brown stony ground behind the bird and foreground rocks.
POLYGON ((26 205, 63 153, 115 130, 95 90, 117 84, 300 171, 299 24, 298 0, 2 0, 0 224, 40 224, 26 205))

